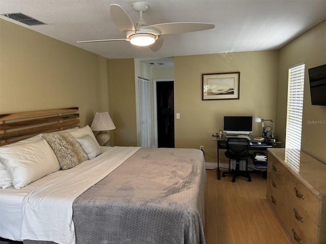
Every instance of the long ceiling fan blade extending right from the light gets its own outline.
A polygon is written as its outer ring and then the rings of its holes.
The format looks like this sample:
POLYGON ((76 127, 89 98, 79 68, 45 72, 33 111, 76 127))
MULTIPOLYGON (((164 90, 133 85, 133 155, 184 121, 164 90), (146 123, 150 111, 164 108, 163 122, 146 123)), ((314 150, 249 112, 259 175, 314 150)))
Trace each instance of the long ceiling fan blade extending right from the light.
POLYGON ((186 32, 205 31, 206 29, 214 28, 214 24, 210 23, 196 23, 196 22, 175 22, 175 23, 161 23, 145 26, 144 28, 156 28, 161 34, 178 34, 186 32))

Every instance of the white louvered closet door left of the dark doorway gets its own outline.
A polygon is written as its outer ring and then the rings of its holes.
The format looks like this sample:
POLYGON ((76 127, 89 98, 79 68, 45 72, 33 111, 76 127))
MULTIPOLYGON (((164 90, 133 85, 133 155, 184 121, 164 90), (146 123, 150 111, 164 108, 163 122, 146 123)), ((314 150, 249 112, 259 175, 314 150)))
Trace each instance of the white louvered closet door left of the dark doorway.
POLYGON ((139 146, 150 147, 150 87, 149 80, 138 77, 139 146))

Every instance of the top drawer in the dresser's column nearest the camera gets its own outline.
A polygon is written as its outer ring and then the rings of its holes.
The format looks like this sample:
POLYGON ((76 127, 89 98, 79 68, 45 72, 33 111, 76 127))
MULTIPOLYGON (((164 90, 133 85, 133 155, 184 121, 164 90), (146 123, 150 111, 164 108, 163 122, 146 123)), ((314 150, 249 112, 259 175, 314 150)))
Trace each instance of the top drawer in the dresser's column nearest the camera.
POLYGON ((318 215, 320 200, 291 173, 287 176, 286 190, 319 226, 318 215))

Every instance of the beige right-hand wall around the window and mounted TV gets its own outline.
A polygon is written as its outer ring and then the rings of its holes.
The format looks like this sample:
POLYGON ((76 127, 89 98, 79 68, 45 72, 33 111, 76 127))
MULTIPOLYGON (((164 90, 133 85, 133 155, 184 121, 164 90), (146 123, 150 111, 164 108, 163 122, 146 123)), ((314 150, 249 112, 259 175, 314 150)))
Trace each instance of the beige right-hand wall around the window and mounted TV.
POLYGON ((326 164, 326 107, 311 105, 308 76, 309 68, 326 64, 326 20, 284 46, 279 53, 277 128, 280 139, 285 141, 288 67, 305 62, 302 150, 326 164))

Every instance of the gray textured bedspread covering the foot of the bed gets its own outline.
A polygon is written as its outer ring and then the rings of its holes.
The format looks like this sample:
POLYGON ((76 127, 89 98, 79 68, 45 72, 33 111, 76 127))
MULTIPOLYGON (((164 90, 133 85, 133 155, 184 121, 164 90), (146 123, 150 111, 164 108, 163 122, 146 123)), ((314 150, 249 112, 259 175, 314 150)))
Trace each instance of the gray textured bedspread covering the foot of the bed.
POLYGON ((75 199, 76 243, 205 244, 205 182, 200 150, 141 148, 75 199))

